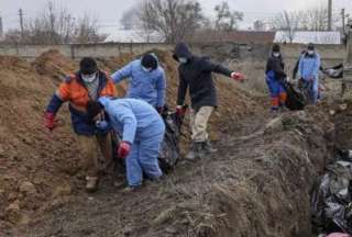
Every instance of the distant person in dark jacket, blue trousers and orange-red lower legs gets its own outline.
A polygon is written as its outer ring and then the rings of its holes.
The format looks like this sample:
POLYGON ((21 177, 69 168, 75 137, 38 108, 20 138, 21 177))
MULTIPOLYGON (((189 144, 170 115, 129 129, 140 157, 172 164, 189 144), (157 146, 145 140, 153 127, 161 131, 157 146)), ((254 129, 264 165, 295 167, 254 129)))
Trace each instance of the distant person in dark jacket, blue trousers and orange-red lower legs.
POLYGON ((277 113, 279 108, 284 108, 287 99, 287 93, 284 82, 287 75, 284 71, 285 63, 280 53, 279 45, 275 44, 272 54, 267 59, 265 69, 265 80, 271 92, 272 112, 277 113))

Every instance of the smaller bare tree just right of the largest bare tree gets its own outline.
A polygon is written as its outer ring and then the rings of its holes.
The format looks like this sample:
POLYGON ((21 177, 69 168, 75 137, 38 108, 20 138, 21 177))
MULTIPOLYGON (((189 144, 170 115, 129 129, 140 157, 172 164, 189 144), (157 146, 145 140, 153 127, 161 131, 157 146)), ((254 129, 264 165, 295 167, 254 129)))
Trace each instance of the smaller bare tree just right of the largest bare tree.
POLYGON ((227 1, 216 5, 216 29, 219 31, 233 31, 238 27, 238 22, 243 20, 243 13, 231 11, 227 1))

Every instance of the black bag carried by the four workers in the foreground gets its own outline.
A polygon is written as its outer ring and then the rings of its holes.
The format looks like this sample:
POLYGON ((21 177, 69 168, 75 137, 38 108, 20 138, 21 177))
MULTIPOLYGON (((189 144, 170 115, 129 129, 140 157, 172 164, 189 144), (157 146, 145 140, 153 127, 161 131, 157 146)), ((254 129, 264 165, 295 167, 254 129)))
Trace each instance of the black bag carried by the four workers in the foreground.
MULTIPOLYGON (((187 110, 188 105, 184 106, 187 110)), ((169 172, 180 158, 179 139, 182 136, 182 125, 184 117, 164 108, 162 117, 165 123, 165 136, 158 154, 158 162, 163 172, 169 172)), ((112 147, 117 147, 121 142, 121 135, 112 132, 112 147)), ((124 159, 120 159, 113 149, 114 170, 119 173, 125 172, 124 159)))

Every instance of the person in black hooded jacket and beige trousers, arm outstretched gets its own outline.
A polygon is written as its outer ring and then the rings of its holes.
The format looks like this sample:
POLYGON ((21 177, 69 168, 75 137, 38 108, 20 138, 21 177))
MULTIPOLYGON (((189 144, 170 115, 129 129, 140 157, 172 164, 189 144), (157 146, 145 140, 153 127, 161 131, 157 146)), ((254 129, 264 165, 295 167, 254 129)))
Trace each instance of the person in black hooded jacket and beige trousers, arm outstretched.
POLYGON ((208 120, 215 108, 218 106, 217 91, 211 74, 221 74, 237 81, 244 80, 244 76, 213 64, 206 57, 193 55, 188 46, 184 43, 178 43, 176 45, 174 59, 180 63, 178 67, 179 84, 176 108, 178 115, 185 113, 183 105, 189 87, 193 142, 186 158, 193 160, 205 154, 216 151, 210 145, 207 133, 208 120))

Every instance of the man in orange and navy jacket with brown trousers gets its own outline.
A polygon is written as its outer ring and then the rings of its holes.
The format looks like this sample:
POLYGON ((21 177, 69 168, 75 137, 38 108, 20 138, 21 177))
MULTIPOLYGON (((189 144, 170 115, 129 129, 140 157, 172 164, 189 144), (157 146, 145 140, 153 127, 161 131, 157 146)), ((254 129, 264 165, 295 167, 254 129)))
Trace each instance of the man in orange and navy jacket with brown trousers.
POLYGON ((116 93, 112 80, 106 72, 98 69, 97 63, 92 58, 87 57, 81 59, 79 71, 68 76, 61 83, 46 108, 44 125, 53 131, 57 125, 56 113, 64 102, 69 102, 74 132, 78 135, 80 150, 86 159, 86 190, 88 192, 98 189, 99 147, 107 165, 112 162, 112 147, 109 129, 100 129, 89 123, 87 104, 103 95, 114 97, 116 93))

